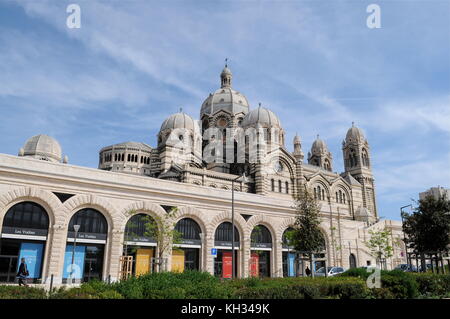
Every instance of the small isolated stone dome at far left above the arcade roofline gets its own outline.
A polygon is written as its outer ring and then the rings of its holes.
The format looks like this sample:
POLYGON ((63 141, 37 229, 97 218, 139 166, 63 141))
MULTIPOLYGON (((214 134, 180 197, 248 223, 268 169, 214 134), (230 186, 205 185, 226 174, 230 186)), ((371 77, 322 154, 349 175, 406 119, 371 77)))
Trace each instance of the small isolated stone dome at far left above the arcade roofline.
POLYGON ((61 162, 61 146, 57 140, 45 134, 28 139, 22 154, 51 162, 61 162))

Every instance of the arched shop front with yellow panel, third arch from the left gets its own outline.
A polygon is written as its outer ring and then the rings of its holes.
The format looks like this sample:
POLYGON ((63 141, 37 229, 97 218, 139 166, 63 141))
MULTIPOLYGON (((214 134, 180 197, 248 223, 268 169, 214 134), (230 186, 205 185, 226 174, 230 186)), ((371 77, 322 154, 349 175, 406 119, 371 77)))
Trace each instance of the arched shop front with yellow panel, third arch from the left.
MULTIPOLYGON (((133 276, 156 271, 156 240, 153 238, 155 220, 146 214, 130 218, 125 227, 124 256, 131 256, 133 276)), ((163 265, 164 267, 164 265, 163 265)))

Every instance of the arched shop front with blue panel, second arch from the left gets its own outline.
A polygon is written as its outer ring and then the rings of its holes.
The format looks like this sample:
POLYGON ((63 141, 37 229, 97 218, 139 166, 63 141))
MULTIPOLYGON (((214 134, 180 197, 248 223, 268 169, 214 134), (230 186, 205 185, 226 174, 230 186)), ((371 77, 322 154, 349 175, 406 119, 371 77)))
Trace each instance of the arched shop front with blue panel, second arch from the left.
POLYGON ((73 215, 67 233, 63 283, 103 280, 107 233, 108 223, 99 211, 85 208, 73 215))

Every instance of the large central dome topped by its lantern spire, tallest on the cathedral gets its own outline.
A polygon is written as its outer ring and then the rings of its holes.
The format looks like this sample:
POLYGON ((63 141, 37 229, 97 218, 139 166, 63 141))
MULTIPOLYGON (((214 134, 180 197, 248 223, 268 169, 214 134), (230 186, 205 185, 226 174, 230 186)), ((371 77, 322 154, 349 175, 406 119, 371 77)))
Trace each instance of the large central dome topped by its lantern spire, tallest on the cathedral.
POLYGON ((225 65, 220 74, 221 88, 210 94, 202 104, 200 118, 205 115, 212 117, 220 111, 226 112, 231 116, 242 113, 242 116, 248 113, 249 103, 247 98, 231 88, 232 73, 225 65))

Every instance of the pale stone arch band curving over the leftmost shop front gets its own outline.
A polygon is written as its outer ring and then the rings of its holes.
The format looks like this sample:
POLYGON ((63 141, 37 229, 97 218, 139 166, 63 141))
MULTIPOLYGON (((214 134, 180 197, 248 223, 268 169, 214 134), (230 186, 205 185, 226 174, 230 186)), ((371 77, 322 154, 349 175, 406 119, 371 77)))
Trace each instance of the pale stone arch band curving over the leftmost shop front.
POLYGON ((50 191, 36 187, 21 187, 0 195, 0 227, 6 212, 15 204, 24 201, 36 202, 47 212, 52 228, 56 222, 56 212, 61 207, 59 198, 50 191))

